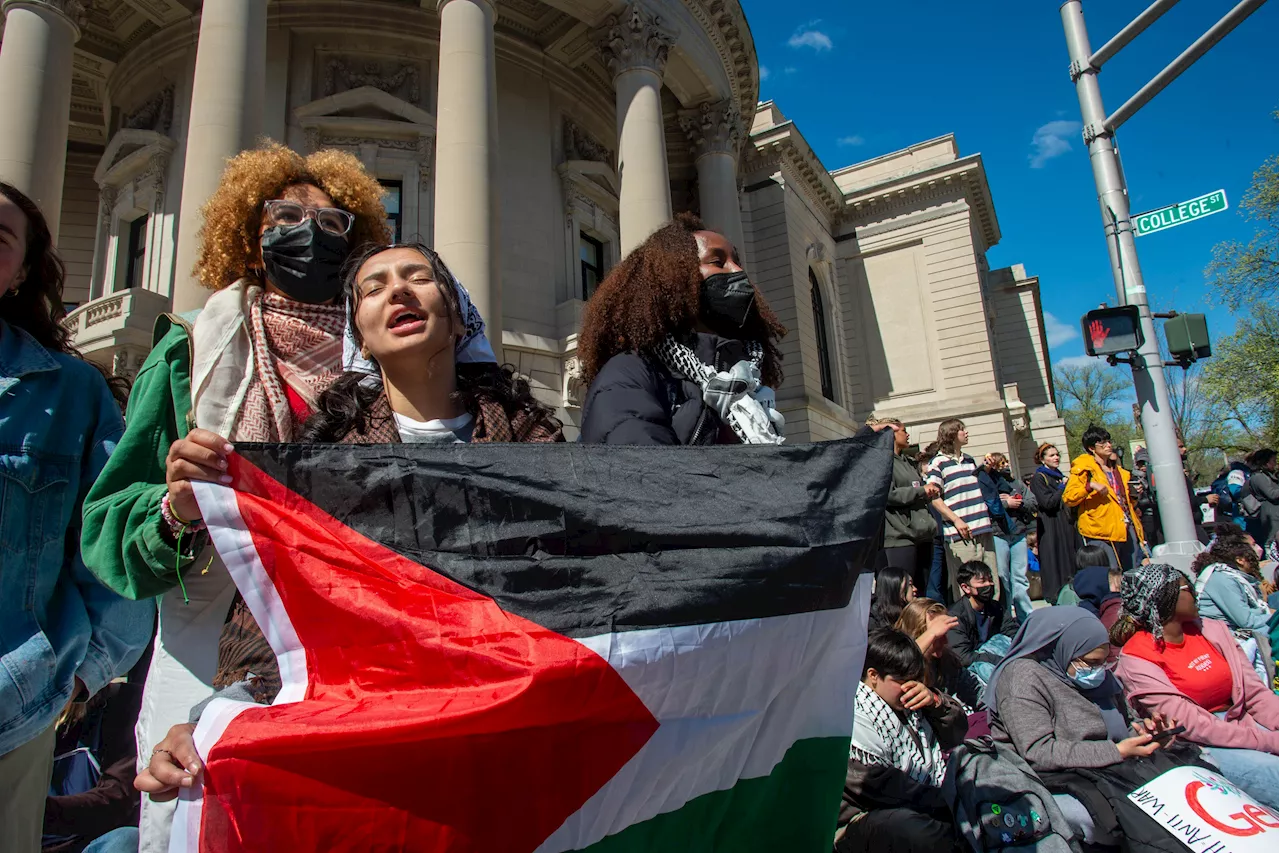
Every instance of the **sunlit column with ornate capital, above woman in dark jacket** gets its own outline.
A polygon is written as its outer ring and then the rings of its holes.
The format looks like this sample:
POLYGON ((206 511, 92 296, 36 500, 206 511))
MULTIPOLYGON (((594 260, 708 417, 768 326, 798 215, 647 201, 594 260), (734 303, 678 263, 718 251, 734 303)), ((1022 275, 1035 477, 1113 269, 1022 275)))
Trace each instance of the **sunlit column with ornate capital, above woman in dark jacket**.
POLYGON ((617 93, 621 255, 671 219, 662 73, 677 33, 639 3, 603 29, 600 53, 617 93))

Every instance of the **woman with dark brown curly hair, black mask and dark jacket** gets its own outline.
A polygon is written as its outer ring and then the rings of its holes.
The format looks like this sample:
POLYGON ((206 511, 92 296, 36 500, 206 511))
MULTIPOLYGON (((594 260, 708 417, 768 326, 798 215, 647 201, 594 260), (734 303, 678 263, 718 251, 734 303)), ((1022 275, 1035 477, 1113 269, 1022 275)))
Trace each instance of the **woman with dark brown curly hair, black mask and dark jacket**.
POLYGON ((588 302, 582 441, 781 443, 772 386, 783 334, 733 245, 691 214, 676 216, 588 302))

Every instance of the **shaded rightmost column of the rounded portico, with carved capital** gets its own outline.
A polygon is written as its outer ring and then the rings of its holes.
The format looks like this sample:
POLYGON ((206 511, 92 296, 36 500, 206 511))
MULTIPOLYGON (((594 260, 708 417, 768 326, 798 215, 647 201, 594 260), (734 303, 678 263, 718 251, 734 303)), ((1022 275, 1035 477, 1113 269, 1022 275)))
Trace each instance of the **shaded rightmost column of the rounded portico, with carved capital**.
POLYGON ((737 201, 737 149, 742 142, 742 119, 737 105, 727 100, 703 104, 681 115, 680 126, 694 146, 703 222, 728 237, 741 255, 745 248, 737 201))

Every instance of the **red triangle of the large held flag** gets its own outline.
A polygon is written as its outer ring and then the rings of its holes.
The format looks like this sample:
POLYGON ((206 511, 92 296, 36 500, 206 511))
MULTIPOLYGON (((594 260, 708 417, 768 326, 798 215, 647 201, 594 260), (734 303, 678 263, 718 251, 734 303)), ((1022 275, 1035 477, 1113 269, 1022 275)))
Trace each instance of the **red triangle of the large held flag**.
POLYGON ((581 643, 232 459, 243 558, 270 579, 307 685, 209 751, 202 850, 534 850, 658 729, 581 643))

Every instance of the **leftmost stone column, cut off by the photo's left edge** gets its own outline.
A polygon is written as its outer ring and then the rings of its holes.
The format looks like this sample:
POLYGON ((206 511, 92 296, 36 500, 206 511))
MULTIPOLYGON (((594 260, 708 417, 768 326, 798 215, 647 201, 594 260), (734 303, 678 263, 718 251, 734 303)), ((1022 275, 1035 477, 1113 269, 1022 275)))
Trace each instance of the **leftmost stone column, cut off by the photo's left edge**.
POLYGON ((72 111, 79 0, 4 0, 0 44, 0 181, 35 199, 58 240, 72 111))

